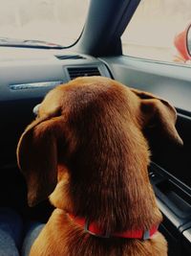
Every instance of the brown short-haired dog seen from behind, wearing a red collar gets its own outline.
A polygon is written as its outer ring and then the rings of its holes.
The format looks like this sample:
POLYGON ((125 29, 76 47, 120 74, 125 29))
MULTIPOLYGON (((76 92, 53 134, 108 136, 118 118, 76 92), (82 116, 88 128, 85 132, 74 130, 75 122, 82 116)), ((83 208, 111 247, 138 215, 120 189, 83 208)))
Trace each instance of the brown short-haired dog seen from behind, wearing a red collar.
POLYGON ((51 195, 56 207, 30 255, 167 255, 142 130, 182 144, 175 123, 167 102, 107 78, 49 92, 17 148, 29 204, 51 195))

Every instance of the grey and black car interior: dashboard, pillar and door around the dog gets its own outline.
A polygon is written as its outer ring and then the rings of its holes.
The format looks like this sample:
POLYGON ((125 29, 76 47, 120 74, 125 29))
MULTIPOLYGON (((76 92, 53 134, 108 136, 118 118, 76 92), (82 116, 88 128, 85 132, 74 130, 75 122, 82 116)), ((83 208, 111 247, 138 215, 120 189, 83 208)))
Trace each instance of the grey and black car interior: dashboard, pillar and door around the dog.
MULTIPOLYGON (((152 152, 149 177, 163 221, 160 232, 173 256, 191 255, 191 72, 189 66, 123 55, 121 35, 139 0, 92 0, 83 31, 70 47, 0 46, 0 205, 24 220, 46 222, 53 206, 27 203, 27 187, 16 163, 16 147, 35 118, 33 107, 56 85, 102 76, 148 91, 174 105, 183 146, 147 131, 152 152), (12 49, 16 55, 12 56, 12 49)), ((144 29, 144 28, 142 28, 144 29)))

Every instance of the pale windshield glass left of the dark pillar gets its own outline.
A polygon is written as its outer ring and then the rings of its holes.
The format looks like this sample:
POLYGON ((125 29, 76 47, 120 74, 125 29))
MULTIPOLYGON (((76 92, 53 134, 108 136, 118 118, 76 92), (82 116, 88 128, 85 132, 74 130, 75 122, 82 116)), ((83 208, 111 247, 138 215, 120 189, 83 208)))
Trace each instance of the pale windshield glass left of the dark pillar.
POLYGON ((21 39, 69 46, 83 29, 89 0, 0 0, 0 6, 0 38, 5 44, 21 39))

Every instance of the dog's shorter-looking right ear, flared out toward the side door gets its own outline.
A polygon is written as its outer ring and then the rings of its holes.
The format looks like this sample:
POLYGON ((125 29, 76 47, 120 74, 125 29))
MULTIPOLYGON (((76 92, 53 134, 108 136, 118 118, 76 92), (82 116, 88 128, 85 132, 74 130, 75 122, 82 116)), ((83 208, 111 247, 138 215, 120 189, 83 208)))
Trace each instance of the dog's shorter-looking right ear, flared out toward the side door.
POLYGON ((176 109, 168 102, 157 96, 131 88, 140 99, 140 107, 144 128, 157 128, 162 135, 167 136, 175 143, 182 145, 183 142, 175 127, 177 121, 176 109))

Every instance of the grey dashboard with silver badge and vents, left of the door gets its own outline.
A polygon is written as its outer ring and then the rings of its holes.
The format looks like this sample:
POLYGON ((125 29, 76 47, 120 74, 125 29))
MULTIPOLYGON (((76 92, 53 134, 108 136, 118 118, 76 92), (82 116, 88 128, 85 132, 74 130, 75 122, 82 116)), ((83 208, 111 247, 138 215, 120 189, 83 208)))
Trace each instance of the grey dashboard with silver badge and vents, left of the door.
POLYGON ((34 118, 32 108, 58 84, 79 76, 111 77, 97 58, 56 50, 0 49, 0 167, 15 164, 16 142, 34 118), (5 55, 6 50, 6 55, 5 55), (1 54, 2 51, 2 54, 1 54))

